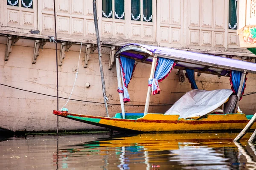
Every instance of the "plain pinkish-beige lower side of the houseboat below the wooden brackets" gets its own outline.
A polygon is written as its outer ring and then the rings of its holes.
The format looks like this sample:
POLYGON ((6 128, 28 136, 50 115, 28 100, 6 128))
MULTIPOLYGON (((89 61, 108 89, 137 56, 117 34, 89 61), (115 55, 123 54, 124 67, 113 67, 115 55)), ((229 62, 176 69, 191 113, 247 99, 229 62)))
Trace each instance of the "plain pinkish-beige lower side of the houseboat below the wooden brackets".
MULTIPOLYGON (((9 60, 4 61, 6 51, 6 37, 0 36, 0 83, 28 91, 56 96, 56 60, 55 44, 47 42, 44 49, 40 49, 36 64, 32 64, 34 40, 20 39, 12 47, 9 60)), ((60 48, 60 44, 58 44, 60 48)), ((72 45, 70 51, 66 52, 63 65, 58 67, 59 71, 59 96, 68 98, 73 87, 79 59, 80 45, 72 45)), ((82 48, 79 63, 79 74, 74 88, 72 99, 86 100, 90 102, 104 102, 102 98, 102 85, 99 72, 99 60, 97 51, 91 55, 87 68, 84 65, 84 51, 82 48), (90 87, 85 88, 89 82, 90 87)), ((58 50, 58 55, 60 51, 58 50)), ((105 74, 106 91, 108 103, 119 104, 117 93, 116 66, 108 70, 110 48, 102 49, 102 62, 105 74)), ((145 97, 148 89, 148 77, 151 65, 138 63, 134 75, 128 87, 131 102, 125 105, 126 112, 143 112, 145 97), (136 105, 136 106, 133 106, 136 105), (137 106, 141 105, 141 106, 137 106)), ((161 93, 151 96, 150 113, 164 113, 170 106, 161 104, 174 104, 187 91, 190 91, 190 84, 179 82, 175 74, 176 69, 169 74, 169 77, 159 83, 161 93)), ((248 74, 247 88, 245 94, 255 91, 256 77, 248 74)), ((196 76, 199 89, 214 90, 230 88, 228 77, 218 78, 214 75, 201 74, 196 76)), ((0 85, 0 127, 9 130, 55 130, 57 116, 52 110, 57 108, 55 97, 21 91, 15 88, 0 85)), ((244 96, 240 102, 240 108, 244 113, 252 114, 256 111, 254 102, 256 94, 244 96)), ((59 100, 60 108, 66 103, 66 99, 59 100)), ((66 108, 71 113, 87 115, 106 116, 103 104, 90 102, 70 101, 66 108)), ((119 105, 109 105, 110 116, 121 112, 119 105)), ((95 129, 93 125, 76 122, 69 119, 59 118, 60 130, 95 129)))

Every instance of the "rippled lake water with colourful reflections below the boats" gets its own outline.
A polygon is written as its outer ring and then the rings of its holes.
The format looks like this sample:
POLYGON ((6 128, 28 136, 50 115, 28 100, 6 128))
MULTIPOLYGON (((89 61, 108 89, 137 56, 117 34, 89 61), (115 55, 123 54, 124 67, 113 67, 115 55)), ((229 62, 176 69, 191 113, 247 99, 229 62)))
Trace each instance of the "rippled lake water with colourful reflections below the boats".
POLYGON ((1 138, 0 169, 255 169, 256 146, 237 133, 109 133, 1 138))

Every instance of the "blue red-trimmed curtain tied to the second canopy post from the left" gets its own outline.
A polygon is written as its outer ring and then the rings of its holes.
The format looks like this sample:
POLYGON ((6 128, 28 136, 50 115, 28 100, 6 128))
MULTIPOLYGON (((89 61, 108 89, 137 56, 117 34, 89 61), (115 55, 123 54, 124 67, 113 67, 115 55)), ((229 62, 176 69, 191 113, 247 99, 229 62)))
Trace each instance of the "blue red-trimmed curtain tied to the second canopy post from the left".
POLYGON ((158 82, 163 81, 168 74, 172 71, 172 68, 175 66, 173 59, 166 59, 162 57, 157 58, 157 66, 154 72, 154 78, 148 79, 148 86, 152 86, 152 94, 159 94, 160 88, 158 82))

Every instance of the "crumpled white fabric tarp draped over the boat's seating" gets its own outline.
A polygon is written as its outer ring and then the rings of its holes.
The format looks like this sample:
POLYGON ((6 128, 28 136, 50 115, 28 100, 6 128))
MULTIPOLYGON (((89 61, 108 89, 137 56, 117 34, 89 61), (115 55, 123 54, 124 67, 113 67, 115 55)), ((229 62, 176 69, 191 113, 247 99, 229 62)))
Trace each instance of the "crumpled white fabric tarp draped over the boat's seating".
POLYGON ((233 93, 230 89, 214 91, 192 90, 184 94, 165 115, 180 115, 179 118, 189 119, 211 113, 223 105, 233 93))

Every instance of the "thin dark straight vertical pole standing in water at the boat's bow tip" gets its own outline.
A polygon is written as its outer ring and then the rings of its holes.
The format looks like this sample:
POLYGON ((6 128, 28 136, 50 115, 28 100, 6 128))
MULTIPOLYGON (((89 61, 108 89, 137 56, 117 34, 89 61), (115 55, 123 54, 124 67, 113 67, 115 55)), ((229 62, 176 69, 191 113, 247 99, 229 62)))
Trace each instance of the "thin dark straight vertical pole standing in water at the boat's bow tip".
MULTIPOLYGON (((55 0, 53 0, 54 7, 54 25, 55 25, 55 52, 56 52, 56 74, 57 74, 57 111, 58 111, 58 51, 57 51, 57 26, 56 26, 56 10, 55 0)), ((58 134, 58 116, 57 116, 57 134, 58 134)))

